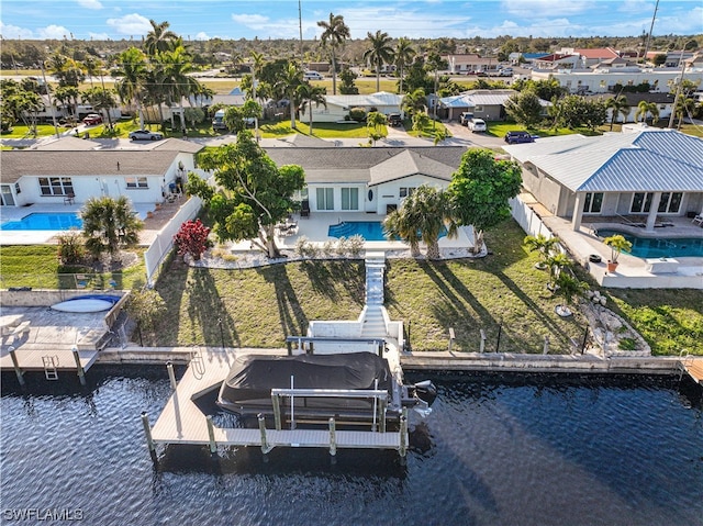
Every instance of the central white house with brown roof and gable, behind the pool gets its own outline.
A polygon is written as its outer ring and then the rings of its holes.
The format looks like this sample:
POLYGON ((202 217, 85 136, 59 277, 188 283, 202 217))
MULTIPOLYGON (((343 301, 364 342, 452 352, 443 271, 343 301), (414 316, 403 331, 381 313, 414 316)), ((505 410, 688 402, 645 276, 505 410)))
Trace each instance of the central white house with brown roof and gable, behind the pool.
POLYGON ((278 166, 300 165, 301 199, 312 213, 368 212, 386 215, 421 184, 447 188, 462 146, 442 148, 268 148, 278 166))

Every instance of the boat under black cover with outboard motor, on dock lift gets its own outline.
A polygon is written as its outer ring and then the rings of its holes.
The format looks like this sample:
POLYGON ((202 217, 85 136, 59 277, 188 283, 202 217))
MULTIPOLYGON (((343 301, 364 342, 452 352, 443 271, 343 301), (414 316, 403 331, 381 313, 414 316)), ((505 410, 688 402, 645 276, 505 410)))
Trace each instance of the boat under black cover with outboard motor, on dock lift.
POLYGON ((217 405, 242 416, 271 415, 271 394, 283 393, 283 417, 290 416, 292 401, 295 418, 369 422, 379 407, 391 417, 403 406, 426 409, 420 390, 399 385, 388 361, 372 352, 241 355, 222 383, 217 405))

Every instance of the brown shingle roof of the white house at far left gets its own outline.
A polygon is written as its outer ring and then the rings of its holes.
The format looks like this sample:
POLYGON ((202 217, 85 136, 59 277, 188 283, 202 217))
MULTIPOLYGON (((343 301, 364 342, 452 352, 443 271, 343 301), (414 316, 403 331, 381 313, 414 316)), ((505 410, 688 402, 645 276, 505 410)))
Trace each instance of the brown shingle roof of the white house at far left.
POLYGON ((5 150, 0 155, 4 183, 23 176, 163 176, 178 152, 169 150, 5 150))

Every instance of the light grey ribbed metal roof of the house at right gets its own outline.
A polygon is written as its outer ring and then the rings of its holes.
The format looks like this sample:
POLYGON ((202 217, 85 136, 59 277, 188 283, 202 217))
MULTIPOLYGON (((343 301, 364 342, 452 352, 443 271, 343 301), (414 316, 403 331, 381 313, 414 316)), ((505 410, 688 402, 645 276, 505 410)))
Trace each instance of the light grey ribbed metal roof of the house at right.
POLYGON ((504 146, 574 192, 703 191, 703 139, 674 130, 504 146))

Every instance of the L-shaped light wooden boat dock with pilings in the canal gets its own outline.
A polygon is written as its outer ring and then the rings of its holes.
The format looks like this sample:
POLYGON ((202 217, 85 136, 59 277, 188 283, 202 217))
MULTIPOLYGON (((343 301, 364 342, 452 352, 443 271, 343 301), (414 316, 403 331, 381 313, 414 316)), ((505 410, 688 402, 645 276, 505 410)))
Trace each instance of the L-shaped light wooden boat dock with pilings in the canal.
POLYGON ((259 417, 258 428, 215 426, 194 401, 220 389, 236 356, 237 352, 232 349, 199 349, 193 352, 179 382, 176 382, 172 366, 167 366, 174 393, 153 427, 149 427, 148 415, 142 415, 153 455, 157 444, 189 444, 210 446, 211 452, 215 452, 217 446, 255 446, 260 447, 264 454, 275 447, 314 447, 328 448, 332 456, 337 448, 394 449, 401 457, 405 456, 406 424, 401 425, 400 432, 384 433, 371 429, 336 430, 333 418, 330 419, 327 429, 277 429, 274 422, 265 422, 264 417, 259 417))

